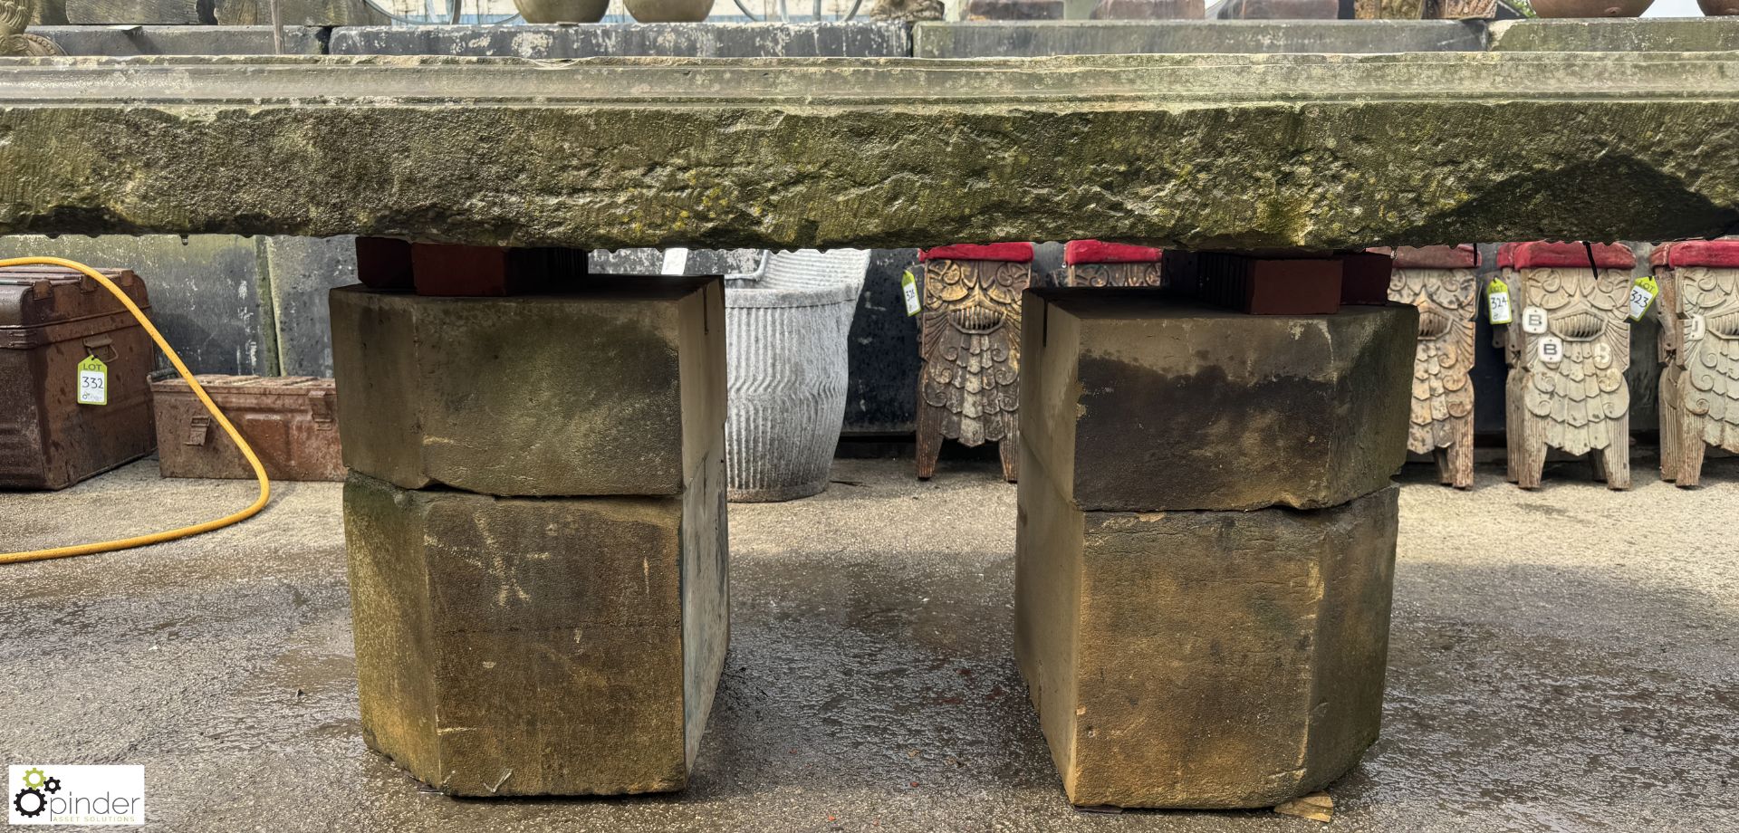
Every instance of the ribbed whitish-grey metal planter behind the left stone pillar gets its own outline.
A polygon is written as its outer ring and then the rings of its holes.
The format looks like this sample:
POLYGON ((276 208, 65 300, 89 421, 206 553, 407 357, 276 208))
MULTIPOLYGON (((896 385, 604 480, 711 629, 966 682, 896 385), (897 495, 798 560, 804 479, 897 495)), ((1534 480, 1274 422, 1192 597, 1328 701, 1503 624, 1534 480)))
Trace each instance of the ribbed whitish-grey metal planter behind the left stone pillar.
POLYGON ((779 252, 725 283, 730 499, 828 487, 845 421, 845 346, 870 252, 779 252))

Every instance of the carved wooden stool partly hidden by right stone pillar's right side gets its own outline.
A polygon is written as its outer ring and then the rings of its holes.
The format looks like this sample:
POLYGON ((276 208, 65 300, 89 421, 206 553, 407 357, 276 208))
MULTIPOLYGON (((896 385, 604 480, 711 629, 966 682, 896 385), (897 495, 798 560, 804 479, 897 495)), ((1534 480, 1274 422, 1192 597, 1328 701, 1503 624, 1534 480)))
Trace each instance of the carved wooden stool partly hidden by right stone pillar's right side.
POLYGON ((1407 450, 1429 454, 1443 485, 1473 485, 1473 330, 1478 252, 1469 243, 1400 247, 1389 301, 1419 308, 1407 450))

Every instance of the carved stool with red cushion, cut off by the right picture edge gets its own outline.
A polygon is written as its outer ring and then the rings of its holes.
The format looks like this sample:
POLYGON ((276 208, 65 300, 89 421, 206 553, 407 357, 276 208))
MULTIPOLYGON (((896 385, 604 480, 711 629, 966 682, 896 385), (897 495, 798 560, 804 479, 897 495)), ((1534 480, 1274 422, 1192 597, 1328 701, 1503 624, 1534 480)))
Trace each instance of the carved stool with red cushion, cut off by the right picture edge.
POLYGON ((1697 485, 1708 447, 1739 452, 1739 240, 1666 243, 1661 297, 1661 478, 1697 485))

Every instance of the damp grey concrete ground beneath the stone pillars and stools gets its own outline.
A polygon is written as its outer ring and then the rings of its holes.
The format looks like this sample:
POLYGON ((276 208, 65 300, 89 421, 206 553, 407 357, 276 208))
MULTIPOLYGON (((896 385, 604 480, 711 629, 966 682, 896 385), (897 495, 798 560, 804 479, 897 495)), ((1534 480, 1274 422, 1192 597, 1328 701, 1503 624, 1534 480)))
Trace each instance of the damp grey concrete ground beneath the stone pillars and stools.
MULTIPOLYGON (((238 830, 1316 830, 1271 812, 1075 812, 1010 645, 1014 487, 840 461, 730 510, 732 645, 692 786, 452 800, 356 725, 339 487, 242 527, 0 567, 0 758, 143 763, 153 826, 238 830)), ((1454 492, 1402 478, 1383 739, 1332 788, 1346 831, 1739 826, 1739 461, 1697 490, 1562 464, 1454 492)), ((0 551, 203 520, 250 483, 146 461, 0 494, 0 551)))

